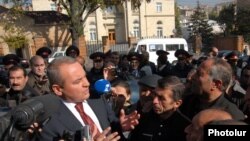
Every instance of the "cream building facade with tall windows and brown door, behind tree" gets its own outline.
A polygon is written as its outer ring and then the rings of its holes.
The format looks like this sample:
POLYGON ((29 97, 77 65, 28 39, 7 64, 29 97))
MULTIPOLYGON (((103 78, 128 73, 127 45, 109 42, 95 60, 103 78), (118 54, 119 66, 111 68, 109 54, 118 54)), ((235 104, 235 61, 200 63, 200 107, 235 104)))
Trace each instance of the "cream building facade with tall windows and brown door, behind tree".
MULTIPOLYGON (((122 43, 128 37, 170 37, 175 29, 174 5, 174 0, 142 1, 141 7, 135 9, 131 1, 126 1, 120 6, 99 8, 83 25, 85 38, 97 41, 106 36, 110 43, 122 43)), ((33 0, 32 8, 34 11, 58 9, 53 1, 46 0, 33 0)))

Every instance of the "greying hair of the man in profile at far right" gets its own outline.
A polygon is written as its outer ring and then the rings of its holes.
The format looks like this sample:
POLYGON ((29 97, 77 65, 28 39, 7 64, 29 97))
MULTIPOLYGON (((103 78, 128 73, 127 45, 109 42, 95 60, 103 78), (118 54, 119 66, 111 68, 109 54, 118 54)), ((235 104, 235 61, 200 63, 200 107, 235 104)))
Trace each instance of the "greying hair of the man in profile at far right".
POLYGON ((212 67, 210 69, 209 75, 212 80, 221 80, 222 87, 219 88, 224 91, 229 86, 232 80, 232 67, 225 60, 220 58, 212 58, 212 67))

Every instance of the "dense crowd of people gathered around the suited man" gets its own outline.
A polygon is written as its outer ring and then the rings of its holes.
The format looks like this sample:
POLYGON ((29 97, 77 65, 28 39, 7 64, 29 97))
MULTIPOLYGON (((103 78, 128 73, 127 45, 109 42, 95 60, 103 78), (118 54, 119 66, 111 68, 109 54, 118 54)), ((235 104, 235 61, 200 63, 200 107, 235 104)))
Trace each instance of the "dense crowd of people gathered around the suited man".
MULTIPOLYGON (((170 63, 169 53, 158 50, 157 64, 146 51, 95 52, 89 56, 90 70, 76 46, 48 63, 50 54, 46 47, 38 50, 29 69, 14 54, 4 57, 1 109, 11 113, 22 102, 44 95, 55 95, 59 104, 46 123, 15 127, 18 135, 8 135, 9 125, 1 123, 1 140, 203 141, 207 124, 250 124, 250 64, 239 68, 234 51, 219 58, 218 49, 211 47, 195 60, 178 49, 177 60, 170 63), (107 94, 95 89, 100 79, 110 82, 107 94), (130 80, 139 87, 134 103, 130 80)), ((6 116, 11 120, 8 113, 1 118, 6 116)))

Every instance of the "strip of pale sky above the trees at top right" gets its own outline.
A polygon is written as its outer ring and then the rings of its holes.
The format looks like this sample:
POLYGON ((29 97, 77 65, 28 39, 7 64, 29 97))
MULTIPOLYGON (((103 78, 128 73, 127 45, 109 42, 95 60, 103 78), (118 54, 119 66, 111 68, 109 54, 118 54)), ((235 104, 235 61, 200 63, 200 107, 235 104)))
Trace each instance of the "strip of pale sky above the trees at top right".
MULTIPOLYGON (((192 7, 196 7, 197 0, 176 0, 178 5, 188 5, 192 7)), ((215 4, 222 3, 222 2, 230 2, 233 0, 199 0, 200 4, 208 4, 210 6, 214 6, 215 4)))

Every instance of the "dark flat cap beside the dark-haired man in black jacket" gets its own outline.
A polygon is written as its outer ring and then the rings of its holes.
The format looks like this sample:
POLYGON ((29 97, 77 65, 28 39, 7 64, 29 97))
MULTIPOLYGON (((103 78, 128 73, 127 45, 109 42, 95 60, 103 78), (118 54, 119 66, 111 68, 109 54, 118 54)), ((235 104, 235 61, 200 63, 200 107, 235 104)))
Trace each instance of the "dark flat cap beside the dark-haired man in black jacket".
POLYGON ((157 74, 146 75, 138 81, 138 84, 150 88, 155 88, 157 86, 158 80, 161 78, 162 77, 157 74))

